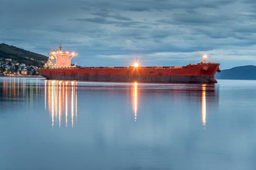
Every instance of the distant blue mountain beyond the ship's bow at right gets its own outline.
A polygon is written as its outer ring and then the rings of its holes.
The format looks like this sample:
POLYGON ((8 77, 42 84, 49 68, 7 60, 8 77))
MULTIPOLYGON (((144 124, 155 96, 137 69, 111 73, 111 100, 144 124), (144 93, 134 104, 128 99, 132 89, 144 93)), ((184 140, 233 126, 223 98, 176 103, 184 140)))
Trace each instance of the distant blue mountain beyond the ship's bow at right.
POLYGON ((256 80, 256 66, 240 66, 221 70, 216 79, 256 80))

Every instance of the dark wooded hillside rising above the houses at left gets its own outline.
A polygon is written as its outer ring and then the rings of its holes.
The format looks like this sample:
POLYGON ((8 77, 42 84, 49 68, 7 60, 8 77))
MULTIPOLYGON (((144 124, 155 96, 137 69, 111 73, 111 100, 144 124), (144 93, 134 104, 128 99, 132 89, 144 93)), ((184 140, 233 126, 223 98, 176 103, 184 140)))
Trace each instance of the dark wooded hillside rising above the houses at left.
POLYGON ((44 65, 44 62, 42 61, 47 61, 48 57, 1 43, 0 59, 12 59, 26 65, 42 66, 44 65))

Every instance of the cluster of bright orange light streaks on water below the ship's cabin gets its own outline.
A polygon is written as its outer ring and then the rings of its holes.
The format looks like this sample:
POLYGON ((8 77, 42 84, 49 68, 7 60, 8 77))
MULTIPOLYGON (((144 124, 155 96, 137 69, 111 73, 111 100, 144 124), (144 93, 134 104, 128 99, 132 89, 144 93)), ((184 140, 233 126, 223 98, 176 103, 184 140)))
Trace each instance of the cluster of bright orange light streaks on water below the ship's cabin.
POLYGON ((61 127, 65 119, 65 126, 73 128, 77 121, 76 82, 45 80, 45 109, 51 114, 52 127, 61 127))

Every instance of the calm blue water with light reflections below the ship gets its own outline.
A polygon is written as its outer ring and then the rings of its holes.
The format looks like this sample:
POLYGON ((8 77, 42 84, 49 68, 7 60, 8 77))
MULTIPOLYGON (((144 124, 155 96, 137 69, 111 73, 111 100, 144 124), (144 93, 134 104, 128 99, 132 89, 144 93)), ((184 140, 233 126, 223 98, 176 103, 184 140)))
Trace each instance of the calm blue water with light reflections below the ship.
POLYGON ((0 77, 0 170, 255 170, 256 81, 0 77))

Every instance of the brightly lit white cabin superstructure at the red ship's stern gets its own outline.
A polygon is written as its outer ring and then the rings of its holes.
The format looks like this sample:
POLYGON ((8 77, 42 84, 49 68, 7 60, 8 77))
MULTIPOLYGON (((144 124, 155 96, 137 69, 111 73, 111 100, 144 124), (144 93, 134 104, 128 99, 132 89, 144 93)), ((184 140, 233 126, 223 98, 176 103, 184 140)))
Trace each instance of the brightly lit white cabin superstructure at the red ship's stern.
POLYGON ((49 53, 50 57, 48 58, 46 67, 50 68, 68 68, 71 67, 71 59, 74 56, 77 56, 77 53, 68 51, 62 51, 61 44, 59 46, 59 51, 51 51, 49 53))

